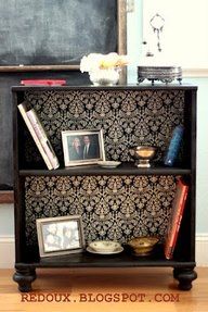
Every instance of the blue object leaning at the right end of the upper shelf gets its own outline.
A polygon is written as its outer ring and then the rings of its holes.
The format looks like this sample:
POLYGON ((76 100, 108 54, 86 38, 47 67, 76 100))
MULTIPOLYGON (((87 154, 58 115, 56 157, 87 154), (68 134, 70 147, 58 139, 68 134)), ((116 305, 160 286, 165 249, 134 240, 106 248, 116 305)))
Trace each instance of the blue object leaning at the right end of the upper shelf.
POLYGON ((174 164, 174 161, 179 154, 183 132, 184 127, 182 125, 174 128, 167 154, 165 157, 165 165, 172 166, 174 164))

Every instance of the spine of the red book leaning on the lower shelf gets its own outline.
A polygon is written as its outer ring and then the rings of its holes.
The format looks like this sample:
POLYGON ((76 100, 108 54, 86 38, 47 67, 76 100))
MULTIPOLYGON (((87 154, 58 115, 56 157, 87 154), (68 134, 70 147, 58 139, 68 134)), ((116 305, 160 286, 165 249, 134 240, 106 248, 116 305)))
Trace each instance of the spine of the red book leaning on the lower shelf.
POLYGON ((170 260, 173 255, 173 251, 176 248, 176 244, 177 244, 177 239, 178 239, 178 235, 179 235, 179 229, 180 229, 181 221, 182 221, 182 216, 183 216, 183 211, 185 208, 185 201, 186 201, 186 197, 187 197, 188 187, 186 185, 183 185, 182 187, 183 187, 183 189, 181 192, 179 209, 178 209, 177 214, 176 214, 174 224, 172 224, 172 233, 171 233, 169 240, 167 241, 167 247, 165 250, 165 255, 166 255, 166 259, 168 259, 168 260, 170 260))

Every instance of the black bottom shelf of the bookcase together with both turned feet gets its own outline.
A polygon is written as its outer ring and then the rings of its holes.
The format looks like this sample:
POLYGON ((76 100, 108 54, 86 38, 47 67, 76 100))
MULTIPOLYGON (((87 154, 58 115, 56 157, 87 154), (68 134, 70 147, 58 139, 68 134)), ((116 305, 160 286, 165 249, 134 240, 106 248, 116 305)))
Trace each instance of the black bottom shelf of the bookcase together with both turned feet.
POLYGON ((170 266, 173 267, 173 277, 179 280, 179 288, 190 290, 192 282, 197 277, 194 271, 195 262, 176 261, 152 257, 135 257, 123 251, 120 254, 91 254, 86 252, 42 258, 35 262, 18 262, 13 279, 18 284, 18 289, 22 292, 30 291, 31 283, 36 279, 36 269, 39 267, 139 267, 139 266, 170 266))

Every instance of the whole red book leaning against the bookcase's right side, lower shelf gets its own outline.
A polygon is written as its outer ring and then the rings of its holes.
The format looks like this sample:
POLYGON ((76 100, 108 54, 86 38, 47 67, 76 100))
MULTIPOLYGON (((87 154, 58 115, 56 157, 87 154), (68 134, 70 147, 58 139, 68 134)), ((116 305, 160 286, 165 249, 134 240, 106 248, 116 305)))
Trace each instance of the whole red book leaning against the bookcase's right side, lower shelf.
POLYGON ((172 214, 168 227, 167 238, 165 242, 165 257, 171 259, 177 244, 181 220, 183 216, 185 201, 187 198, 188 186, 179 179, 177 190, 172 202, 172 214))

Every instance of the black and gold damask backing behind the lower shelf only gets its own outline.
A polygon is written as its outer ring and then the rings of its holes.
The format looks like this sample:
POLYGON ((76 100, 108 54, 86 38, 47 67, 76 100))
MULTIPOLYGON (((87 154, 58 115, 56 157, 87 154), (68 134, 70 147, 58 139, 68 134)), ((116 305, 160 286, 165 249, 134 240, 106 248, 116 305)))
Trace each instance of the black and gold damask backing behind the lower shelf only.
POLYGON ((26 241, 37 245, 36 219, 80 214, 87 241, 164 237, 176 190, 172 176, 28 176, 26 241))

